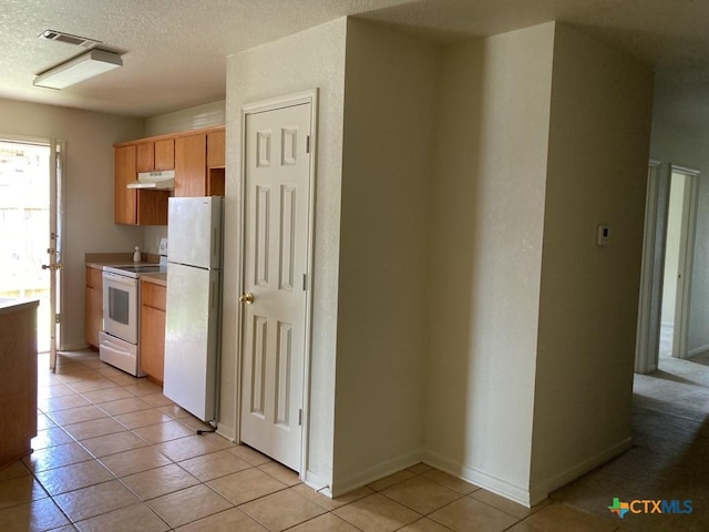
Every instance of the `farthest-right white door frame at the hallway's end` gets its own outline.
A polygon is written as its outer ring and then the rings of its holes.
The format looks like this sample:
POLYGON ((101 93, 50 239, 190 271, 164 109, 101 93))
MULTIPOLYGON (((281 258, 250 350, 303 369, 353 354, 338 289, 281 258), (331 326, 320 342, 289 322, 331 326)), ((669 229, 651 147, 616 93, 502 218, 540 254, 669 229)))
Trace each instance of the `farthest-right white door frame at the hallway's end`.
POLYGON ((679 238, 679 266, 677 275, 677 297, 675 311, 675 334, 672 357, 688 358, 689 308, 691 304, 691 282, 695 266, 695 235, 697 228, 697 206, 699 198, 699 171, 670 165, 672 174, 687 176, 682 201, 681 234, 679 238))

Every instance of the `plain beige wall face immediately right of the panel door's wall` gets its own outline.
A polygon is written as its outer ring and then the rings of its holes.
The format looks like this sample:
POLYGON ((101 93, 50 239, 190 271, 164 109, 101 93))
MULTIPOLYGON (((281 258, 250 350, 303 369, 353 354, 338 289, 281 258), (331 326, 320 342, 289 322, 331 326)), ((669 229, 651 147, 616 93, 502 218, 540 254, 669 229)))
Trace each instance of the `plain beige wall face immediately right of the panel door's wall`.
POLYGON ((336 493, 421 459, 439 64, 436 47, 348 21, 336 493))

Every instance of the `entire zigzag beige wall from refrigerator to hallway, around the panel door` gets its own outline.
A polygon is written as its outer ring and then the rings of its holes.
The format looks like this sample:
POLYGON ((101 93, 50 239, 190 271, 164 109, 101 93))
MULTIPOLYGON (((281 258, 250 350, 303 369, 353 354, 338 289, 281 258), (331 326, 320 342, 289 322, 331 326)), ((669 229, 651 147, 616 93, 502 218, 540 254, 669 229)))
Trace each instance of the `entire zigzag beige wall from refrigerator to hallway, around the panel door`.
POLYGON ((240 109, 319 88, 311 483, 421 457, 530 503, 627 443, 647 70, 555 23, 436 51, 342 19, 230 58, 227 79, 224 433, 240 109))

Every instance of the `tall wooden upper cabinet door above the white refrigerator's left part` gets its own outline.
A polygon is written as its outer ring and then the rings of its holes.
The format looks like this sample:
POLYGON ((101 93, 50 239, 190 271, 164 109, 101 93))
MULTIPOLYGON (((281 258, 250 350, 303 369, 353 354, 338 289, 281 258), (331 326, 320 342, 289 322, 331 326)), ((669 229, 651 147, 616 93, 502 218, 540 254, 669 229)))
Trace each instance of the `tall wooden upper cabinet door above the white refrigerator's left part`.
POLYGON ((206 196, 206 133, 175 139, 175 196, 206 196))

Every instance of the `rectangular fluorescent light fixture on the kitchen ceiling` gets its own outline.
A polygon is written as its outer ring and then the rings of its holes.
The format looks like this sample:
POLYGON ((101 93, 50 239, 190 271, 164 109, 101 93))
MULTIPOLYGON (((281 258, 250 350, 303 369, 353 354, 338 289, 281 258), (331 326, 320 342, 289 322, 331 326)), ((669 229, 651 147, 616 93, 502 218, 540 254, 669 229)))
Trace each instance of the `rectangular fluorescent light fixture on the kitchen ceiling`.
POLYGON ((94 49, 42 72, 34 78, 34 85, 64 89, 119 66, 123 66, 121 55, 94 49))

